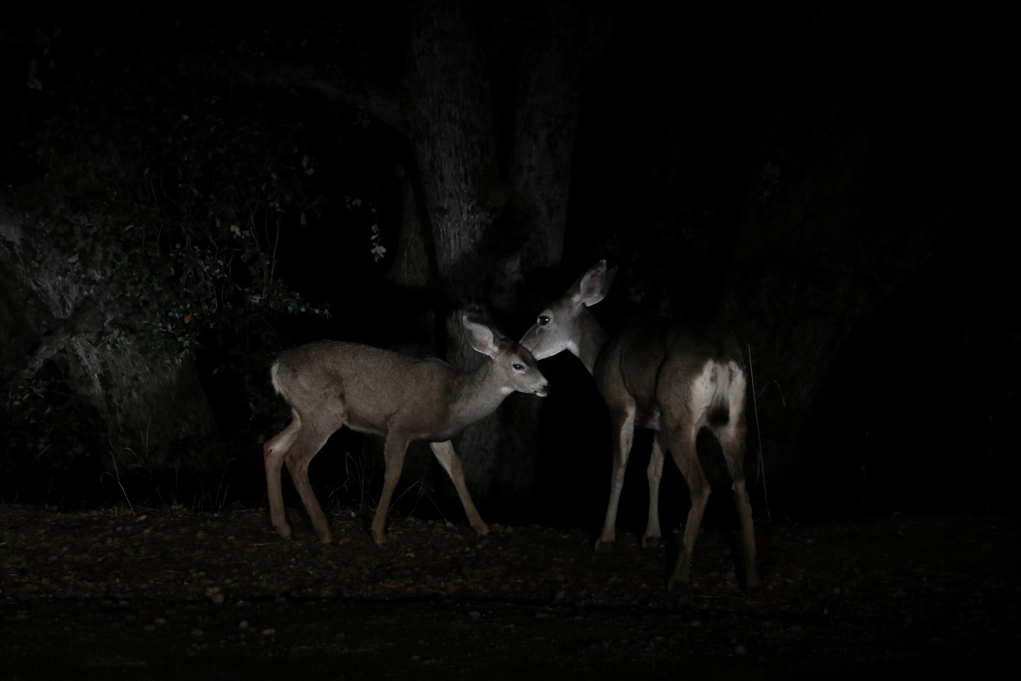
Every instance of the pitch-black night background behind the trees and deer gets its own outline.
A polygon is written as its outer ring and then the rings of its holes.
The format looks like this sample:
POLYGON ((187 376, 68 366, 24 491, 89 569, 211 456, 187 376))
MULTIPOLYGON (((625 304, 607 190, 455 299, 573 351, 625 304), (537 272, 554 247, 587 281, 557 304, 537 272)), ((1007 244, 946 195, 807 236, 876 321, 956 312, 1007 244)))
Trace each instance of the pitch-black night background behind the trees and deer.
MULTIPOLYGON (((1003 17, 977 10, 951 15, 932 8, 814 4, 750 11, 695 7, 665 14, 653 6, 620 12, 604 49, 584 71, 564 257, 561 267, 535 272, 528 280, 529 306, 537 312, 543 301, 606 258, 611 265, 621 264, 612 293, 594 309, 607 326, 630 314, 713 318, 740 278, 735 268, 743 261, 734 254, 749 242, 749 207, 764 186, 764 167, 779 166, 781 179, 788 169, 799 169, 793 171, 799 181, 811 183, 819 157, 850 146, 841 137, 844 131, 867 129, 865 179, 848 194, 874 223, 873 231, 861 233, 862 242, 880 238, 883 230, 914 230, 918 245, 905 257, 922 257, 917 267, 882 284, 883 293, 870 299, 868 314, 840 329, 843 342, 797 437, 798 463, 767 488, 772 518, 811 521, 894 510, 1016 513, 1021 328, 1015 251, 1008 245, 1017 220, 1006 205, 1016 194, 1012 94, 1017 80, 1008 73, 1013 50, 998 38, 1003 17), (848 122, 854 116, 871 117, 871 123, 848 122), (833 119, 829 128, 827 119, 833 119), (821 131, 818 144, 798 137, 809 130, 821 131), (804 155, 781 158, 777 149, 799 149, 804 155), (645 289, 634 290, 639 285, 645 289)), ((153 28, 159 40, 179 36, 183 45, 197 45, 209 32, 200 15, 167 12, 165 20, 180 19, 183 28, 176 34, 161 25, 153 28)), ((137 31, 155 20, 129 24, 137 31)), ((243 20, 252 25, 239 19, 223 28, 225 42, 262 29, 256 18, 243 20)), ((39 26, 62 24, 65 40, 74 41, 88 21, 110 40, 118 35, 111 19, 78 10, 40 19, 39 26)), ((281 21, 292 27, 301 19, 281 21)), ((15 187, 40 181, 22 144, 33 142, 37 122, 32 117, 39 110, 32 99, 39 93, 25 87, 34 26, 26 19, 0 36, 0 180, 15 187)), ((380 35, 385 29, 379 26, 367 28, 366 42, 399 43, 397 36, 380 35)), ((351 53, 362 47, 352 46, 351 53)), ((389 55, 368 71, 383 81, 399 77, 399 46, 364 49, 371 57, 389 55)), ((501 67, 504 76, 513 76, 513 64, 501 67)), ((501 87, 505 91, 498 89, 494 106, 498 116, 506 116, 500 107, 509 105, 503 99, 513 98, 513 87, 501 87)), ((257 93, 238 87, 236 96, 248 105, 257 93)), ((359 126, 353 107, 306 92, 294 97, 289 114, 303 122, 305 142, 319 164, 319 188, 330 203, 307 226, 284 231, 279 274, 309 303, 329 302, 334 318, 289 318, 284 345, 318 337, 378 346, 414 339, 409 319, 428 296, 401 292, 385 279, 400 247, 400 185, 394 169, 409 163, 407 142, 379 122, 359 126), (345 208, 345 193, 355 192, 378 210, 389 256, 380 263, 369 254, 371 220, 345 208)), ((756 247, 760 255, 768 253, 756 247)), ((849 243, 846 253, 854 259, 873 251, 863 247, 857 254, 849 243)), ((784 257, 782 249, 769 256, 774 265, 779 259, 781 268, 784 257)), ((841 266, 831 255, 820 258, 822 269, 841 266)), ((867 279, 868 265, 860 265, 859 272, 867 279)), ((0 270, 0 277, 5 274, 0 270)), ((776 323, 796 317, 795 311, 776 323)), ((498 321, 514 337, 531 323, 525 313, 498 321)), ((770 323, 756 321, 758 328, 770 323)), ((8 337, 0 332, 0 339, 8 337)), ((244 398, 211 375, 221 361, 211 352, 197 358, 197 368, 221 427, 229 428, 244 398)), ((595 528, 610 471, 605 408, 575 358, 545 360, 540 368, 554 394, 539 416, 541 445, 531 501, 483 499, 480 511, 490 521, 595 528)), ((0 382, 9 377, 0 376, 0 382)), ((759 442, 749 425, 750 459, 759 442)), ((702 441, 703 455, 718 457, 714 443, 702 441)), ((619 525, 632 530, 644 521, 649 446, 648 433, 636 437, 629 463, 619 525)), ((359 447, 360 436, 342 433, 321 452, 312 465, 321 497, 332 480, 344 474, 342 453, 359 447)), ((719 462, 710 461, 707 468, 711 482, 719 481, 719 462)), ((264 482, 254 470, 239 478, 237 494, 257 502, 264 482)), ((452 488, 442 479, 433 483, 443 494, 436 495, 436 506, 420 505, 416 513, 428 516, 438 507, 460 517, 456 498, 446 494, 452 488)), ((687 491, 673 464, 663 486, 662 499, 684 500, 663 503, 665 525, 676 524, 686 512, 687 491)), ((753 492, 760 516, 763 493, 762 486, 753 492)), ((41 490, 21 489, 19 495, 38 498, 41 490)), ((401 502, 397 509, 409 512, 410 506, 401 502)), ((735 521, 729 494, 711 501, 706 523, 718 521, 735 521)))

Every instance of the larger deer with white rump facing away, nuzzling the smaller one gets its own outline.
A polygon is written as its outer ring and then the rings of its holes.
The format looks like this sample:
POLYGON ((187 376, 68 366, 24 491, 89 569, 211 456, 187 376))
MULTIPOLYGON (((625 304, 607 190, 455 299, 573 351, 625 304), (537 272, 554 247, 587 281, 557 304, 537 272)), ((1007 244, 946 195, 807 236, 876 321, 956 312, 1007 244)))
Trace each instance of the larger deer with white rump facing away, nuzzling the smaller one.
POLYGON ((520 342, 539 360, 570 351, 595 378, 610 409, 613 472, 605 521, 595 548, 605 548, 616 538, 617 507, 634 429, 651 428, 654 437, 646 470, 648 524, 641 543, 648 547, 661 538, 660 480, 664 453, 669 450, 687 482, 691 508, 684 545, 667 586, 673 591, 678 584, 689 584, 691 554, 712 491, 695 452, 695 438, 704 426, 720 442, 733 480, 743 538, 745 587, 758 587, 755 529, 743 473, 745 378, 740 348, 717 325, 668 326, 645 320, 612 335, 588 308, 606 296, 616 273, 616 267, 607 272, 606 261, 600 260, 536 316, 520 342))

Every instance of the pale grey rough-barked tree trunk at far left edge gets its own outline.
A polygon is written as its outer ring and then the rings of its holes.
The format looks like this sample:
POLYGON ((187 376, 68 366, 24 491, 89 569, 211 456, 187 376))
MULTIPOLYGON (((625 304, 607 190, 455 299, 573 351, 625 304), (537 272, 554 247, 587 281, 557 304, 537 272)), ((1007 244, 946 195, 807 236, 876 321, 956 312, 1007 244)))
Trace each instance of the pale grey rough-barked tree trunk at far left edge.
MULTIPOLYGON (((216 427, 190 362, 153 365, 120 335, 126 315, 94 221, 41 186, 0 189, 0 381, 7 391, 46 375, 64 382, 95 418, 92 446, 110 472, 131 466, 217 463, 216 427)), ((63 456, 54 450, 53 456, 63 456)))

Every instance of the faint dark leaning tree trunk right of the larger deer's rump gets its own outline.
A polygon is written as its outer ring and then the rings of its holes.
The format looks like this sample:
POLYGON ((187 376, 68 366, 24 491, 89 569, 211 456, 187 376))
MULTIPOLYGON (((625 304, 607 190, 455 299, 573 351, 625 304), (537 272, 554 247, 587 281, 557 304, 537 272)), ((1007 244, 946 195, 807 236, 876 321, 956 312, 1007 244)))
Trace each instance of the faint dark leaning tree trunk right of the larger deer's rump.
POLYGON ((880 165, 883 101, 870 94, 785 115, 764 144, 721 313, 750 350, 760 396, 748 405, 758 418, 748 428, 749 480, 758 476, 760 434, 769 482, 783 480, 803 454, 826 455, 807 451, 805 436, 835 363, 852 331, 922 265, 949 217, 897 224, 876 210, 869 183, 880 165))

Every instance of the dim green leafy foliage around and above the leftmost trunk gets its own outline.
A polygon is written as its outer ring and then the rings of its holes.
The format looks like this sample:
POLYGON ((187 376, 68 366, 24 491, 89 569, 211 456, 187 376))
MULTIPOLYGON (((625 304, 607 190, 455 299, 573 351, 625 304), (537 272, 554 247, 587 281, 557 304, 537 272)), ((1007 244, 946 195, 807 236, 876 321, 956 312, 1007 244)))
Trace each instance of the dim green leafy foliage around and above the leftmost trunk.
MULTIPOLYGON (((130 343, 159 364, 196 360, 222 432, 250 454, 253 442, 286 420, 268 367, 290 345, 287 328, 301 333, 307 325, 285 318, 330 317, 328 304, 309 305, 278 266, 289 243, 304 238, 294 232, 321 219, 323 186, 351 194, 343 215, 372 230, 366 260, 386 252, 372 201, 361 208, 354 196, 374 195, 375 185, 359 177, 368 167, 359 150, 370 148, 360 139, 372 127, 363 114, 354 126, 338 124, 337 111, 325 114, 314 94, 240 86, 217 71, 234 51, 216 62, 225 53, 218 45, 233 48, 239 36, 237 53, 255 56, 242 49, 247 29, 237 21, 203 17, 209 35, 188 44, 180 21, 136 16, 124 31, 85 14, 88 29, 38 29, 22 116, 34 166, 27 176, 44 174, 40 184, 60 206, 54 214, 76 223, 66 262, 88 276, 98 272, 101 315, 83 315, 85 326, 74 331, 114 351, 130 343), (196 56, 206 50, 208 61, 196 56), (344 149, 329 179, 311 148, 324 157, 344 149)), ((281 40, 295 50, 300 44, 300 56, 307 38, 292 33, 281 40)), ((52 459, 66 474, 90 451, 89 462, 98 462, 105 436, 97 435, 96 418, 90 422, 95 414, 79 413, 87 410, 72 379, 49 362, 34 380, 0 398, 0 465, 23 472, 52 459)))

